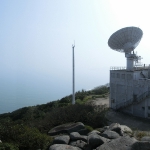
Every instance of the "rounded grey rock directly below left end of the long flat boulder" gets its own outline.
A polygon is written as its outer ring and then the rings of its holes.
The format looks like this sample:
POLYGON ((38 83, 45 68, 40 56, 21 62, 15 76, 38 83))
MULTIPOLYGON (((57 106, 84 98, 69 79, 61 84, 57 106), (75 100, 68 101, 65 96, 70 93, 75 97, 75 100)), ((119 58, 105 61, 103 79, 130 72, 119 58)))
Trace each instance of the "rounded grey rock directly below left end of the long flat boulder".
POLYGON ((54 139, 53 144, 68 144, 70 137, 68 135, 58 136, 54 139))

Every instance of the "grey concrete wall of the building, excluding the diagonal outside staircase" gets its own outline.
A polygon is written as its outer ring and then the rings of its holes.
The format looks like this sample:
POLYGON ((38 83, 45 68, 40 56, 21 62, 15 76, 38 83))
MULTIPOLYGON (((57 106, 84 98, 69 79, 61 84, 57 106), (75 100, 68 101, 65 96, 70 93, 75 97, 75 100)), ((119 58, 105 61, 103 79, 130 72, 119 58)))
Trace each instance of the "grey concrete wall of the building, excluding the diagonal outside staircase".
MULTIPOLYGON (((116 108, 117 104, 124 103, 141 94, 150 91, 150 79, 148 70, 142 70, 146 78, 142 78, 141 70, 111 70, 110 71, 110 107, 116 108)), ((124 112, 139 117, 150 118, 150 98, 146 98, 138 104, 128 106, 124 112)))

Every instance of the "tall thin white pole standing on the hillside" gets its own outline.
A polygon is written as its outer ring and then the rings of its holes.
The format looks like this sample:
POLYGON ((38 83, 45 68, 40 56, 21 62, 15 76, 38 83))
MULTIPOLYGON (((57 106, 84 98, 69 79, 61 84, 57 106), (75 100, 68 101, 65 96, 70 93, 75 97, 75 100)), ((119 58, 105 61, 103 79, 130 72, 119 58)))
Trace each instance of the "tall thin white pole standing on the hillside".
POLYGON ((74 64, 74 47, 75 45, 72 45, 72 71, 73 71, 73 77, 72 77, 72 104, 75 104, 75 64, 74 64))

